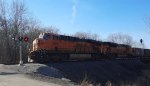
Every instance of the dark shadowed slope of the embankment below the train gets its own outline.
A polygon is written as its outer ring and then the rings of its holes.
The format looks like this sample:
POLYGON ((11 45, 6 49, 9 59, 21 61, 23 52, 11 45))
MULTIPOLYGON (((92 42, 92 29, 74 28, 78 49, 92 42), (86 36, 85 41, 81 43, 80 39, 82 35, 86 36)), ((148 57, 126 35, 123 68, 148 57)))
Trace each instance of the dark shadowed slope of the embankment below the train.
POLYGON ((150 65, 142 63, 138 59, 109 60, 109 61, 80 61, 47 64, 53 67, 73 82, 80 83, 88 79, 93 83, 105 84, 129 82, 149 84, 150 65))

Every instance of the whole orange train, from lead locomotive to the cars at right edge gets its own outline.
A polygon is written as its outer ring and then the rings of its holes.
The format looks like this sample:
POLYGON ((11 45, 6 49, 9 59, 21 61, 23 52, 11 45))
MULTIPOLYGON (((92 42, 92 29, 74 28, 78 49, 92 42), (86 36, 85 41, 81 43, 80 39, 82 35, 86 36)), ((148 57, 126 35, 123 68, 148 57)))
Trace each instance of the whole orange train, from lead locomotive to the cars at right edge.
POLYGON ((40 34, 32 48, 29 62, 150 57, 149 49, 53 33, 40 34))

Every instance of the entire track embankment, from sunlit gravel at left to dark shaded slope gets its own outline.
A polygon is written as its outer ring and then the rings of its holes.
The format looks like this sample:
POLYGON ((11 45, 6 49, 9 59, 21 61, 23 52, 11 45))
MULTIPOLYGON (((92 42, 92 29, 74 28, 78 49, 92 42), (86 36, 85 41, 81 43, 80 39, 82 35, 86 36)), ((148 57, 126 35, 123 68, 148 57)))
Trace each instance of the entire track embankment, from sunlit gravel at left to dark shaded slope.
POLYGON ((25 74, 26 77, 34 80, 61 86, 76 86, 75 83, 80 83, 85 78, 92 83, 100 83, 102 86, 108 81, 115 84, 127 82, 136 83, 139 86, 150 85, 150 64, 144 64, 137 59, 31 63, 24 66, 5 65, 3 71, 0 69, 0 76, 16 73, 25 74))

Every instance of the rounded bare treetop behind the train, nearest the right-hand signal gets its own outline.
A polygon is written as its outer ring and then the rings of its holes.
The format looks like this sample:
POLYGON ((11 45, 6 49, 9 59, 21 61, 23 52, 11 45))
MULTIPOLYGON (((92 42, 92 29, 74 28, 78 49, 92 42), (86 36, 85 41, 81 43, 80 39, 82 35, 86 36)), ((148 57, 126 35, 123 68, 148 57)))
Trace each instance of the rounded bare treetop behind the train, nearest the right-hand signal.
POLYGON ((114 33, 108 36, 108 41, 118 43, 118 44, 126 44, 133 45, 134 41, 131 36, 123 33, 114 33))

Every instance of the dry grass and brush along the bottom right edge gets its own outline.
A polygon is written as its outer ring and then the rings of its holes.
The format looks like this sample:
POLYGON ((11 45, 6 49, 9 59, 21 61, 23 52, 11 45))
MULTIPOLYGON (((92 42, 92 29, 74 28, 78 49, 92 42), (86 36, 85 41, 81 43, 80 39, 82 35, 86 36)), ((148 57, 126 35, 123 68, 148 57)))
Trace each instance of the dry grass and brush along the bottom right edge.
POLYGON ((81 86, 150 86, 150 64, 147 64, 147 68, 142 70, 141 76, 137 76, 134 81, 118 81, 114 83, 113 81, 107 81, 101 84, 93 84, 93 81, 90 81, 87 77, 85 77, 81 81, 81 86))

